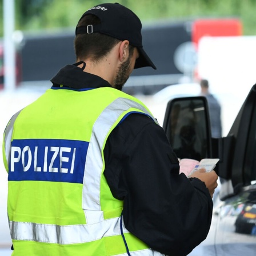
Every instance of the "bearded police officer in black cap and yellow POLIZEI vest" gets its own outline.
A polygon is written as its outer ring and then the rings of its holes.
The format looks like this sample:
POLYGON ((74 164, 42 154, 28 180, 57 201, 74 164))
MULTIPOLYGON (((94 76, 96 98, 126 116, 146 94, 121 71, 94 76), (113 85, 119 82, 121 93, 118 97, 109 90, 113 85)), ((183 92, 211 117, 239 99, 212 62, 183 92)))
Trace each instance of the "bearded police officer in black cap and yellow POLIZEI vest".
POLYGON ((134 68, 155 69, 139 18, 95 6, 74 44, 77 63, 5 130, 15 255, 188 254, 209 231, 217 175, 179 175, 162 127, 121 91, 134 68))

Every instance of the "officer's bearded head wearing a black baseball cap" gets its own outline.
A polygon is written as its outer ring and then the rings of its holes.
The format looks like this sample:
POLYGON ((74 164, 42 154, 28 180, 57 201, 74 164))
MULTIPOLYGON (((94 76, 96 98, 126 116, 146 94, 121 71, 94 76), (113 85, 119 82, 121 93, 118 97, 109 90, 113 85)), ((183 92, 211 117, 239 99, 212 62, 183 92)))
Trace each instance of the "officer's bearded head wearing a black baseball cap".
POLYGON ((151 66, 153 62, 142 46, 141 21, 131 10, 118 3, 103 3, 87 10, 79 19, 75 34, 77 61, 90 59, 101 62, 114 47, 126 50, 117 67, 115 85, 121 89, 135 68, 151 66), (134 59, 135 58, 135 59, 134 59))

